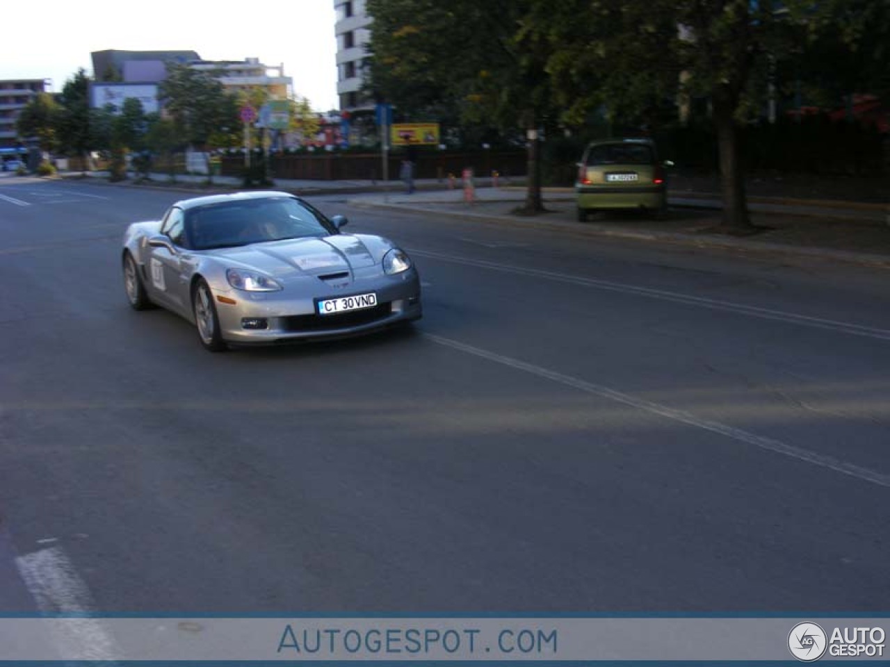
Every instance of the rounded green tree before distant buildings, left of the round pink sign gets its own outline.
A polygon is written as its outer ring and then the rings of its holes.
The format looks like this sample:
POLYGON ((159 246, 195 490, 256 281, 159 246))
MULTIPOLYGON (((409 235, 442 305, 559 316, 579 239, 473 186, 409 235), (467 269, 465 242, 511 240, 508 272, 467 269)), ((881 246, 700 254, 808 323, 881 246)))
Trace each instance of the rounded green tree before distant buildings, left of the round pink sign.
POLYGON ((212 73, 169 63, 158 99, 184 143, 205 147, 221 127, 239 125, 238 100, 212 73))

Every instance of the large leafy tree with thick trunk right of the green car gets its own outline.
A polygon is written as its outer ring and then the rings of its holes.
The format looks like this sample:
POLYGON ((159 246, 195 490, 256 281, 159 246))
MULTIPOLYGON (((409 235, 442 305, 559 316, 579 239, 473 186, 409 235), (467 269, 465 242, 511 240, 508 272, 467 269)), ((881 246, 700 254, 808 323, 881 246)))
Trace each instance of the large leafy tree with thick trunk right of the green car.
POLYGON ((554 45, 548 67, 562 99, 574 94, 582 106, 604 101, 641 112, 657 108, 672 89, 707 98, 717 137, 723 227, 740 233, 750 228, 740 124, 762 101, 764 92, 753 86, 758 69, 769 66, 771 55, 797 50, 789 27, 811 20, 804 2, 797 8, 798 0, 595 0, 562 4, 552 12, 539 4, 538 31, 554 45))

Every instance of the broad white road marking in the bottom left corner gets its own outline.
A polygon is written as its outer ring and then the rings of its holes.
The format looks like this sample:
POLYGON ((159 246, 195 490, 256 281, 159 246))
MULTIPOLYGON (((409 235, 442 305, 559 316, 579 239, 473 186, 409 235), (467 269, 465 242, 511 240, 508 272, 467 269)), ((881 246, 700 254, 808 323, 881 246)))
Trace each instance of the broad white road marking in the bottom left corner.
POLYGON ((66 660, 122 659, 122 651, 101 621, 89 617, 95 611, 93 596, 60 547, 20 556, 15 564, 40 611, 78 616, 57 619, 51 626, 60 655, 66 660))

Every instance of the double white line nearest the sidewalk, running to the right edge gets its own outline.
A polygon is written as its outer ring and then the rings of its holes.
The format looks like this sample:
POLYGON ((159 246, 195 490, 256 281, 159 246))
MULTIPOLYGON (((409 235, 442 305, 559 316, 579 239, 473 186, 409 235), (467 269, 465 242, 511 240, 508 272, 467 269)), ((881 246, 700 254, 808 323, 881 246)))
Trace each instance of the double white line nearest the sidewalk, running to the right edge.
POLYGON ((661 301, 674 301, 676 303, 683 303, 687 306, 700 306, 701 308, 708 308, 712 310, 724 310, 727 312, 739 313, 740 315, 749 315, 751 317, 772 319, 794 325, 810 326, 816 329, 826 329, 837 333, 849 333, 855 336, 874 338, 879 341, 890 341, 890 330, 879 329, 875 326, 857 325, 853 324, 852 322, 840 322, 833 319, 824 319, 822 317, 798 315, 797 313, 789 313, 782 310, 760 308, 758 306, 748 306, 744 303, 721 301, 719 299, 708 299, 707 297, 692 296, 689 294, 678 292, 667 292, 665 290, 651 289, 650 287, 622 285, 620 283, 612 283, 608 280, 570 276, 564 273, 554 273, 552 271, 545 271, 541 269, 525 269, 522 267, 509 266, 507 264, 498 264, 493 261, 468 260, 464 257, 455 257, 453 255, 440 253, 428 253, 423 250, 409 249, 408 252, 409 254, 417 255, 419 257, 429 257, 435 260, 451 261, 457 264, 479 267, 481 269, 492 269, 495 271, 503 271, 505 273, 515 273, 522 276, 542 277, 546 278, 547 280, 556 280, 561 283, 570 283, 572 285, 595 287, 596 289, 606 290, 609 292, 635 294, 637 296, 645 296, 651 299, 660 299, 661 301))

